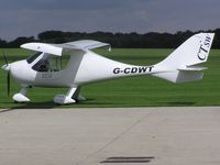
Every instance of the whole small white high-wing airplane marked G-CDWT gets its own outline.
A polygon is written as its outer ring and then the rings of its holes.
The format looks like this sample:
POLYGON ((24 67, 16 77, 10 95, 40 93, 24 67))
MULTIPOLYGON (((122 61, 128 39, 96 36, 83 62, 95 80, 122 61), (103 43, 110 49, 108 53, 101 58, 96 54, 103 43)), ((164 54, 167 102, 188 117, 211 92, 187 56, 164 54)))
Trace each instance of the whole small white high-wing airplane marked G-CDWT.
MULTIPOLYGON (((22 48, 36 53, 28 59, 6 65, 7 70, 21 84, 21 91, 13 95, 15 102, 29 102, 26 89, 30 87, 65 87, 66 95, 57 95, 54 102, 74 103, 85 100, 79 95, 80 87, 90 82, 138 75, 152 75, 173 82, 186 82, 202 79, 205 67, 213 41, 213 33, 195 34, 156 65, 135 66, 102 57, 94 48, 108 47, 109 44, 82 40, 64 44, 28 43, 22 48), (69 54, 64 69, 57 67, 57 56, 69 54), (55 65, 56 64, 56 65, 55 65)), ((8 75, 9 75, 8 74, 8 75)), ((8 76, 9 82, 9 76, 8 76)))

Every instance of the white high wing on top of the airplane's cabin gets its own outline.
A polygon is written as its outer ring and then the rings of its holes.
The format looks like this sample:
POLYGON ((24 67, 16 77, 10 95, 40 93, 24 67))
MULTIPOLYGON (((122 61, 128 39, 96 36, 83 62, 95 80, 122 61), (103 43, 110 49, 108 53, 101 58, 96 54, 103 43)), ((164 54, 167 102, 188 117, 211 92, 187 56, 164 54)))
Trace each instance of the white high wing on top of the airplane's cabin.
POLYGON ((111 48, 110 44, 92 40, 81 40, 64 44, 26 43, 21 45, 21 47, 36 52, 44 52, 56 56, 62 56, 63 52, 81 51, 86 53, 88 50, 98 47, 108 47, 109 50, 111 48))

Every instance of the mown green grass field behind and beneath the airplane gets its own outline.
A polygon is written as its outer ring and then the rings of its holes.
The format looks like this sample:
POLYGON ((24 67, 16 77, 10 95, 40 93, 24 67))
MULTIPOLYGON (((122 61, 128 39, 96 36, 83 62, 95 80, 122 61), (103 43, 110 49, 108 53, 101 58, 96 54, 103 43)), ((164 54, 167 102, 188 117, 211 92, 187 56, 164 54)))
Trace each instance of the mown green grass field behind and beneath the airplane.
MULTIPOLYGON (((10 62, 25 58, 30 54, 19 48, 0 52, 6 52, 10 62)), ((172 50, 116 48, 112 52, 97 52, 128 64, 151 65, 165 58, 172 50)), ((1 58, 0 65, 3 64, 4 61, 1 58)), ((81 90, 87 101, 62 107, 219 106, 220 51, 212 50, 205 66, 209 69, 205 70, 204 79, 189 84, 172 84, 155 77, 141 76, 88 85, 81 90)), ((0 70, 0 108, 56 108, 59 106, 53 103, 54 96, 67 91, 61 88, 32 88, 28 91, 31 103, 14 103, 11 97, 20 87, 11 79, 11 96, 8 97, 7 73, 0 70)))

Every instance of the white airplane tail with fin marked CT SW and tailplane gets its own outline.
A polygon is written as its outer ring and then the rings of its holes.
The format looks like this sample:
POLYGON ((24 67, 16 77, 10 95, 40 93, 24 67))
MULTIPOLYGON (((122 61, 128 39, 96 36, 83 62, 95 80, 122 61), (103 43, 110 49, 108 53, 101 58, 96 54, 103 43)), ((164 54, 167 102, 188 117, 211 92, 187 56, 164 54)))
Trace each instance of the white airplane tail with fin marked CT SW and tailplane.
POLYGON ((175 50, 167 58, 155 65, 162 70, 153 76, 173 82, 186 82, 202 79, 205 67, 198 66, 207 62, 215 33, 195 34, 175 50))

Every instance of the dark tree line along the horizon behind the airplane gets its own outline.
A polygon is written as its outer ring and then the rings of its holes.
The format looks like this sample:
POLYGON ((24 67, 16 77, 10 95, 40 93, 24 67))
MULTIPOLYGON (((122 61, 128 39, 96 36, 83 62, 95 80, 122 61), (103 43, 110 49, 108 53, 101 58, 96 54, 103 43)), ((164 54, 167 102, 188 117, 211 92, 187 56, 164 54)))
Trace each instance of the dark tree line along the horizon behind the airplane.
POLYGON ((62 31, 45 31, 34 36, 21 36, 14 41, 7 42, 0 38, 0 47, 15 48, 21 44, 30 42, 44 42, 44 43, 66 43, 77 40, 97 40, 100 42, 110 43, 112 47, 123 48, 175 48, 180 45, 188 37, 199 32, 216 33, 212 48, 220 48, 220 29, 209 31, 185 31, 170 33, 150 32, 145 34, 139 33, 111 33, 111 32, 62 32, 62 31))

